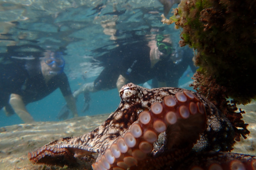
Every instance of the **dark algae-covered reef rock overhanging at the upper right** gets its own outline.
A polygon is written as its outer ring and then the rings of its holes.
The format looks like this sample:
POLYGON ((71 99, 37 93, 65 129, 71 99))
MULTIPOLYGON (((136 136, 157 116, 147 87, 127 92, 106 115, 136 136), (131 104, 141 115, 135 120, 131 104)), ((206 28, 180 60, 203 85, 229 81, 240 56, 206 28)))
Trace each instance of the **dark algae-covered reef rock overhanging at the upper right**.
POLYGON ((180 45, 195 49, 194 89, 226 114, 237 133, 249 134, 236 104, 256 98, 256 1, 183 0, 170 20, 182 28, 180 45), (239 129, 239 130, 238 130, 239 129))

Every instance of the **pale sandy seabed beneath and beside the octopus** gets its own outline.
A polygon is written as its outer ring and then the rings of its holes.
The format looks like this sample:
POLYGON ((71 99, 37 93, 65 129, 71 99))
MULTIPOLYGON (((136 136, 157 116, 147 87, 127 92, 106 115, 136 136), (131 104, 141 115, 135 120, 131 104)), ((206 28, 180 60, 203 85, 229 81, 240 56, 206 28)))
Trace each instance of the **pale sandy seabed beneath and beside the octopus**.
MULTIPOLYGON (((256 155, 256 102, 239 106, 246 114, 244 121, 251 131, 247 139, 237 142, 232 152, 256 155)), ((62 122, 36 122, 36 124, 18 124, 0 128, 0 169, 70 169, 67 167, 47 167, 34 165, 28 160, 28 152, 42 147, 48 142, 75 137, 90 132, 107 119, 109 114, 72 118, 62 122)))

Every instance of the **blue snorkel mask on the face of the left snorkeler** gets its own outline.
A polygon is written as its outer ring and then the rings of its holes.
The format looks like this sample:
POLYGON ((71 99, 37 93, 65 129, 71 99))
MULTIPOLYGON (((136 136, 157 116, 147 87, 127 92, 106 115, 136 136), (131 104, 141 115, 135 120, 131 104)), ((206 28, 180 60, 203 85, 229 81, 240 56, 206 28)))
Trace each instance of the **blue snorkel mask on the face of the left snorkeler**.
POLYGON ((51 53, 49 58, 46 58, 44 62, 52 67, 53 70, 57 71, 50 71, 50 74, 60 74, 64 71, 65 61, 62 57, 61 52, 51 53))

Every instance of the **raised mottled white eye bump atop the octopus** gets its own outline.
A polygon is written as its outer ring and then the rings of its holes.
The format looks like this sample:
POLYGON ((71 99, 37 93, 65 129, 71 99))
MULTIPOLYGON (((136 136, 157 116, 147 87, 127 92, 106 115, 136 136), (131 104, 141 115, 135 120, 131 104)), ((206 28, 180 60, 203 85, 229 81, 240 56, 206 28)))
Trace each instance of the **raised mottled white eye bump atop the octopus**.
POLYGON ((135 101, 138 98, 139 89, 133 83, 125 84, 119 91, 119 95, 124 102, 135 101))

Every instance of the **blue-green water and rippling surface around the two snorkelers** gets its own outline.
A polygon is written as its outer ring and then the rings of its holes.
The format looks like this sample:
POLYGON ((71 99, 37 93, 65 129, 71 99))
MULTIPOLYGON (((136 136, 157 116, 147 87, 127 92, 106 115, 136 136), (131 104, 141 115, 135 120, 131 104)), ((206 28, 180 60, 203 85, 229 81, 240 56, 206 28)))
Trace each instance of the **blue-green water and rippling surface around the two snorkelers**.
MULTIPOLYGON (((180 30, 174 25, 161 23, 163 6, 155 1, 0 1, 3 11, 0 12, 0 52, 6 46, 35 44, 43 48, 66 47, 67 54, 65 73, 68 75, 72 90, 83 83, 92 82, 102 67, 97 61, 92 64, 92 57, 104 52, 95 49, 109 50, 115 48, 114 40, 103 32, 101 21, 115 20, 117 39, 150 34, 151 29, 158 29, 163 35, 171 34, 173 44, 178 46, 180 30), (102 3, 102 8, 94 9, 102 3), (113 14, 113 6, 117 11, 113 14), (117 17, 117 18, 116 18, 117 17), (82 79, 85 75, 85 79, 82 79)), ((176 6, 176 5, 175 5, 176 6)), ((174 6, 174 7, 175 7, 174 6)), ((171 16, 171 12, 169 13, 171 16)), ((179 85, 191 81, 193 73, 189 72, 180 79, 179 85)), ((191 89, 191 88, 190 88, 191 89)), ((83 95, 77 100, 79 116, 97 115, 114 112, 120 98, 117 89, 99 91, 91 94, 90 109, 82 113, 83 95)), ((28 104, 28 112, 35 121, 59 121, 56 117, 65 100, 59 89, 42 100, 28 104)), ((17 115, 6 117, 0 111, 0 126, 23 123, 17 115)))

